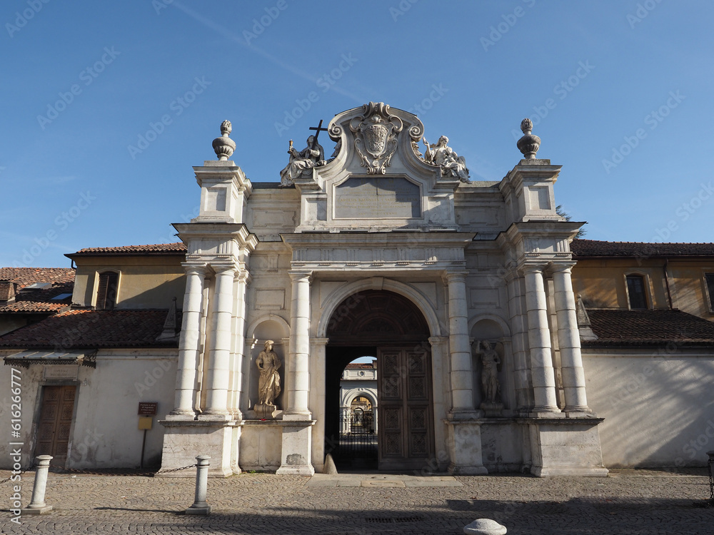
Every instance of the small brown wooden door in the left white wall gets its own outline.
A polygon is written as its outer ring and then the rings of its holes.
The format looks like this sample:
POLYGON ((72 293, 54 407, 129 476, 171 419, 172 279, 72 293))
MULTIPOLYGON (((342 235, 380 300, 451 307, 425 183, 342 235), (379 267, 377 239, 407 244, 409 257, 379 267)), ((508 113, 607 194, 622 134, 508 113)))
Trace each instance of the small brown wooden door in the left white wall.
POLYGON ((52 466, 64 467, 74 413, 76 387, 42 387, 42 408, 35 455, 51 455, 52 466))

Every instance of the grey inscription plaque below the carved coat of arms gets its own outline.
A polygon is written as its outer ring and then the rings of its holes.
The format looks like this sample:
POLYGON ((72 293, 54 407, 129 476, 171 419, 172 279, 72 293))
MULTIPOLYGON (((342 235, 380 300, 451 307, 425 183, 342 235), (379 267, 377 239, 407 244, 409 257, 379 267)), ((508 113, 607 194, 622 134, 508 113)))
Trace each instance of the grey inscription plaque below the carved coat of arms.
POLYGON ((335 187, 335 219, 421 218, 421 188, 406 178, 348 178, 335 187))

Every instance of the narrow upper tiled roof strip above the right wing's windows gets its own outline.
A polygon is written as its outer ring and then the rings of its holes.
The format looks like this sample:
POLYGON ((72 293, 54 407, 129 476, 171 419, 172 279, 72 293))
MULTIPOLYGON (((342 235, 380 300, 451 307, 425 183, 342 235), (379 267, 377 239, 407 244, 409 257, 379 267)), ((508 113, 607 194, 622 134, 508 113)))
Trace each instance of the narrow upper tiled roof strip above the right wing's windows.
POLYGON ((628 256, 714 256, 714 243, 638 243, 573 240, 570 244, 575 258, 628 256))

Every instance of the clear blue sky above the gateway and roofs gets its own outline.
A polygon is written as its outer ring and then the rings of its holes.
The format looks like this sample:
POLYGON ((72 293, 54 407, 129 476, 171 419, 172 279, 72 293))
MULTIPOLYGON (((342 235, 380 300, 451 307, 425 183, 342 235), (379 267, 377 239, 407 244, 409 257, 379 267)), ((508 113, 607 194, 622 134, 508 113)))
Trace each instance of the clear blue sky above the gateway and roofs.
POLYGON ((6 0, 0 265, 175 241, 223 119, 248 178, 278 181, 288 139, 368 101, 448 136, 472 180, 518 163, 530 116, 587 238, 713 241, 712 19, 708 1, 6 0))

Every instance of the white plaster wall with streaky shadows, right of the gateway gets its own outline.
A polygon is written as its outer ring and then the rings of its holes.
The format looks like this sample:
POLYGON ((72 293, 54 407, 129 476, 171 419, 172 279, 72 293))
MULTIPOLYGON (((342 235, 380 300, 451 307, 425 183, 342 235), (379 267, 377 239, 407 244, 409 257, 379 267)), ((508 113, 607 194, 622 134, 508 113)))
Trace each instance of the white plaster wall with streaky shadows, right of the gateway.
POLYGON ((605 467, 702 466, 714 449, 714 355, 584 352, 605 467))

